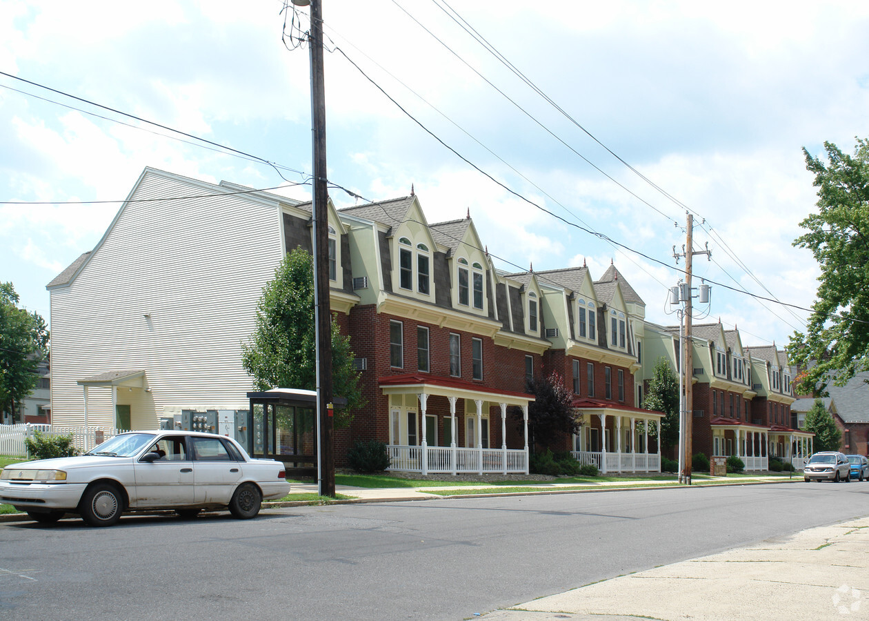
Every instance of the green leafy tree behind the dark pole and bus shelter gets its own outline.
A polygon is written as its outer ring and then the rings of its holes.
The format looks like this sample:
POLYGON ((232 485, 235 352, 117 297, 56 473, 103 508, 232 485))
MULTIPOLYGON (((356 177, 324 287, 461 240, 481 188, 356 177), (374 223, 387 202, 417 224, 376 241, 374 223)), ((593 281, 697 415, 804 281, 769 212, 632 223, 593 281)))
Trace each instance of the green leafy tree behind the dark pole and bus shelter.
MULTIPOLYGON (((345 427, 365 400, 359 371, 353 366, 350 338, 332 322, 332 391, 345 397, 347 407, 336 412, 335 427, 345 427)), ((316 388, 314 263, 296 248, 275 270, 275 279, 262 288, 256 306, 256 329, 242 344, 242 365, 259 391, 270 388, 316 388)))

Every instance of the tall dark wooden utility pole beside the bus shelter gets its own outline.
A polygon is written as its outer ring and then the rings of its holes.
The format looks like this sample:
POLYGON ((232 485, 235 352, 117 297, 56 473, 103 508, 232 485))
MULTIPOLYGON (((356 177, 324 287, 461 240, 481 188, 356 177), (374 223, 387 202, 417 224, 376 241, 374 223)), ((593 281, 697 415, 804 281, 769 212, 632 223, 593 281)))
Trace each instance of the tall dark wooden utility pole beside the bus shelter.
POLYGON ((311 29, 311 143, 314 151, 314 307, 316 333, 317 487, 321 496, 335 497, 335 421, 332 417, 332 317, 328 285, 328 187, 326 173, 326 89, 323 82, 321 0, 293 0, 310 4, 311 29))

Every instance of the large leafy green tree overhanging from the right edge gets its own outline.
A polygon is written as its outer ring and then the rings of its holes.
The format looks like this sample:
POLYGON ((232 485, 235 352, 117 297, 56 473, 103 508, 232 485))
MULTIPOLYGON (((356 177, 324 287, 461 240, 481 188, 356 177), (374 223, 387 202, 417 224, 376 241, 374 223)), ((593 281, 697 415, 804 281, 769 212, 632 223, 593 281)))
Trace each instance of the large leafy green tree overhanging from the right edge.
POLYGON ((799 390, 822 395, 831 379, 845 385, 869 369, 869 143, 857 138, 853 156, 824 147, 826 164, 803 149, 819 212, 799 223, 808 232, 793 242, 812 250, 820 284, 806 334, 794 332, 788 347, 806 369, 799 390))

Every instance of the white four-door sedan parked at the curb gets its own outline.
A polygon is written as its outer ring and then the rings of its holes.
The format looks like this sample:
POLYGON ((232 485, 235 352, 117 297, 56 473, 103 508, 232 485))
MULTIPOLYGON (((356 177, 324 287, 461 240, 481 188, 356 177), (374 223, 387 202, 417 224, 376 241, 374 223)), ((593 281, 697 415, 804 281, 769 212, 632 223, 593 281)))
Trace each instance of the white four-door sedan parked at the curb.
POLYGON ((197 431, 130 431, 84 455, 14 464, 0 474, 0 503, 43 524, 67 512, 110 526, 123 511, 195 517, 225 507, 246 519, 263 500, 288 493, 281 462, 254 459, 232 438, 197 431))

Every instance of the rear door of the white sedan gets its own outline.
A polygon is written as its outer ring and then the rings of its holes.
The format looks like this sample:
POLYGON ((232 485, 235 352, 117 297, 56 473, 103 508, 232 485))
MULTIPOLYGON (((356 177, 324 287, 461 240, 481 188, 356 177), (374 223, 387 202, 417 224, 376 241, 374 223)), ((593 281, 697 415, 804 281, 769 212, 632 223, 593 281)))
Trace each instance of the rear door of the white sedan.
POLYGON ((220 436, 191 436, 196 504, 229 504, 242 478, 243 462, 220 436))

